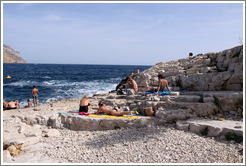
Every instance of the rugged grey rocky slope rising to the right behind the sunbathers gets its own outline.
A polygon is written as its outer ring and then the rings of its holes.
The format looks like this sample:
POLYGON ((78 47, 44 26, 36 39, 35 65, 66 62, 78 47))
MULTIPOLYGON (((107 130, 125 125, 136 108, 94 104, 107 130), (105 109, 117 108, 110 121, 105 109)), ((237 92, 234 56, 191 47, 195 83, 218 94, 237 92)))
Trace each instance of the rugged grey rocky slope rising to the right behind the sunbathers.
MULTIPOLYGON (((156 88, 162 74, 173 89, 190 91, 242 91, 243 46, 192 58, 160 62, 133 76, 139 90, 156 88)), ((122 83, 117 86, 120 88, 122 83)))

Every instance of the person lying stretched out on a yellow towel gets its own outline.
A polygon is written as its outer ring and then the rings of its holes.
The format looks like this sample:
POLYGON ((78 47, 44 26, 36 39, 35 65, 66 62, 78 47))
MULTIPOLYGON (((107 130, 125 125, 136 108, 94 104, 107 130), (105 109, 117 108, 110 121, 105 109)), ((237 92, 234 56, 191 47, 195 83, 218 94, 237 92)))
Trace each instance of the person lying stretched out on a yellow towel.
POLYGON ((99 102, 98 106, 99 109, 97 112, 95 112, 96 115, 98 115, 100 112, 103 112, 113 116, 123 116, 125 114, 131 114, 131 116, 133 116, 132 111, 120 111, 120 110, 110 109, 107 106, 105 106, 102 102, 99 102))

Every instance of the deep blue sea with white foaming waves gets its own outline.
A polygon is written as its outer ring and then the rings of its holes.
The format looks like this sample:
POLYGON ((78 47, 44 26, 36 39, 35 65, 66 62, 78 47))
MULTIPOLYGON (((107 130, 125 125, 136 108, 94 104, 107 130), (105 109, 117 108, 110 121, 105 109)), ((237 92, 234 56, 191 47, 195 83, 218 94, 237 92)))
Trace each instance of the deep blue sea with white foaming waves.
POLYGON ((3 64, 3 98, 17 99, 21 107, 31 98, 33 86, 39 90, 38 104, 82 98, 84 94, 107 93, 116 89, 132 71, 151 66, 86 64, 3 64), (10 76, 11 78, 6 78, 10 76))

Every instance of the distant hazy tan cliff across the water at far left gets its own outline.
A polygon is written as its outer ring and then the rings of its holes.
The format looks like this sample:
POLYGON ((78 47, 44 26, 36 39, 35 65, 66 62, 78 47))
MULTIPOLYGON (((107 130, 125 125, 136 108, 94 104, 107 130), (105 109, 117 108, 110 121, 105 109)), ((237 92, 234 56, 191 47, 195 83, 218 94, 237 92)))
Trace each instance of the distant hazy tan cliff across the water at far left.
POLYGON ((20 57, 20 52, 4 44, 3 63, 26 63, 26 61, 20 57))

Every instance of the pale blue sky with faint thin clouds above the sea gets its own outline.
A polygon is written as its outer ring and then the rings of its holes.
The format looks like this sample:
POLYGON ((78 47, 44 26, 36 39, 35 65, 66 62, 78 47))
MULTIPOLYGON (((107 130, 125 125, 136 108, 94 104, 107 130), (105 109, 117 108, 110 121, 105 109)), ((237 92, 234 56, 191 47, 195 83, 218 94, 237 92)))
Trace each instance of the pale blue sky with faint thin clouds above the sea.
POLYGON ((242 37, 242 3, 3 4, 4 44, 30 63, 154 65, 242 37))

